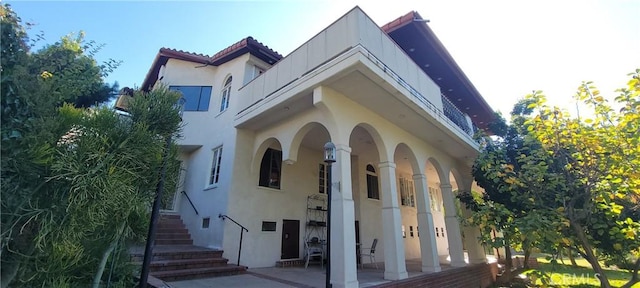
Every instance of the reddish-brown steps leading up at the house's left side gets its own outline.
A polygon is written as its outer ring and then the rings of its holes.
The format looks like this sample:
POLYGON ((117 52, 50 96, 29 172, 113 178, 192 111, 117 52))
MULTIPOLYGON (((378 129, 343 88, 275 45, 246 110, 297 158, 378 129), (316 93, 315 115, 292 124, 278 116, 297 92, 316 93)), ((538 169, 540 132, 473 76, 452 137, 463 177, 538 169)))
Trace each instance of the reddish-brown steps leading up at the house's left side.
MULTIPOLYGON (((149 275, 163 281, 241 274, 246 267, 228 264, 222 250, 193 245, 180 215, 164 214, 158 221, 149 275)), ((130 248, 132 260, 142 263, 144 247, 130 248)))

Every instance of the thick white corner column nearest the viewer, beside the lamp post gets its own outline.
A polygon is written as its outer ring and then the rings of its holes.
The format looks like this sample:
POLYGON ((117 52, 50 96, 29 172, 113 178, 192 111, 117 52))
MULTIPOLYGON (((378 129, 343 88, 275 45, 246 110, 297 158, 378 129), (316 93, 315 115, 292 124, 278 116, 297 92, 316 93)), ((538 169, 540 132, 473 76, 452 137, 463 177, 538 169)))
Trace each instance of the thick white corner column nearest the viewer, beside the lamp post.
POLYGON ((351 148, 336 144, 331 181, 331 283, 336 288, 357 288, 356 233, 351 191, 351 148))

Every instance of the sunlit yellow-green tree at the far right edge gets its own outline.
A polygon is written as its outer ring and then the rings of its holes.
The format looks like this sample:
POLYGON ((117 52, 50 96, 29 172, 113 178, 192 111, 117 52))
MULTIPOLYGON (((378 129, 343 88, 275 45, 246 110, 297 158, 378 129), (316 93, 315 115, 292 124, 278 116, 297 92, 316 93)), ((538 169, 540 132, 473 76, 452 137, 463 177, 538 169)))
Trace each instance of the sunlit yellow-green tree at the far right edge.
MULTIPOLYGON (((610 287, 594 250, 605 258, 640 248, 640 69, 619 89, 613 109, 591 82, 583 83, 576 98, 592 109, 593 117, 573 118, 545 104, 540 93, 529 96, 537 115, 529 119, 530 135, 561 167, 555 205, 567 221, 572 247, 599 273, 602 287, 610 287)), ((638 281, 640 260, 628 286, 638 281)))

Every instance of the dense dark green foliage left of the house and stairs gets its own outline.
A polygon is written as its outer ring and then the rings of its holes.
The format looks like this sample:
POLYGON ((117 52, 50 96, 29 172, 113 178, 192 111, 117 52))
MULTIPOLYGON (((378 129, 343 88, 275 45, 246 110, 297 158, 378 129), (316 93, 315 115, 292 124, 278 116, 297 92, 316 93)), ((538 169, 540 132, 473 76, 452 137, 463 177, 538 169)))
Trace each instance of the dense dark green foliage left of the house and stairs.
POLYGON ((2 287, 95 287, 106 267, 130 286, 124 243, 144 237, 179 95, 136 92, 128 116, 85 108, 108 99, 96 95, 111 93, 116 62, 97 65, 82 36, 31 53, 20 18, 0 9, 2 287))

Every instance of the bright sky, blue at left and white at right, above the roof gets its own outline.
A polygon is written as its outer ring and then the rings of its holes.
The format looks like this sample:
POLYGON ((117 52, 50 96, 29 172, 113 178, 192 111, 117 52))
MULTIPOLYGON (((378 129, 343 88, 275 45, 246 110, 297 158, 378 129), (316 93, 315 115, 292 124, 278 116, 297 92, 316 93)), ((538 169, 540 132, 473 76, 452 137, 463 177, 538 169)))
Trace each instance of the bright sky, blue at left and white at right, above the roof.
POLYGON ((640 67, 640 0, 5 1, 45 41, 84 31, 122 60, 108 82, 140 85, 161 47, 213 55, 253 36, 286 55, 359 5, 376 23, 415 10, 495 109, 543 90, 568 109, 583 80, 605 95, 640 67))

